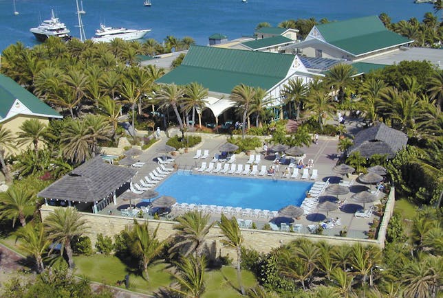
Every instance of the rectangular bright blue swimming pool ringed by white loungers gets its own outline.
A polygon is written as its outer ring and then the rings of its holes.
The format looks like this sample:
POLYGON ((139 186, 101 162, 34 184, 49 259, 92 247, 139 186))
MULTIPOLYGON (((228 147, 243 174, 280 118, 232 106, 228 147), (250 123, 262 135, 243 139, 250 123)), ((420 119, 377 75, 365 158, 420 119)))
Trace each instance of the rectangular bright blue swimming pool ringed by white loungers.
POLYGON ((175 173, 155 190, 177 203, 279 210, 300 206, 311 186, 303 181, 175 173))

